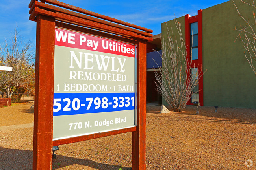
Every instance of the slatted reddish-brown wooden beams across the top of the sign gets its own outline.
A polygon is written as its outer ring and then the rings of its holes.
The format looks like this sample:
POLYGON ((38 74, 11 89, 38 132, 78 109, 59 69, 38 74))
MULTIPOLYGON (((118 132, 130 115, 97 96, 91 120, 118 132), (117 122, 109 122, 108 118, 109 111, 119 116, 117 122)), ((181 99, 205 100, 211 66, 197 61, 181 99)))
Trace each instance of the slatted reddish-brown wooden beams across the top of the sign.
POLYGON ((152 30, 130 24, 109 16, 100 15, 57 0, 31 0, 30 20, 36 21, 37 15, 46 15, 56 21, 109 33, 127 39, 152 41, 152 30))

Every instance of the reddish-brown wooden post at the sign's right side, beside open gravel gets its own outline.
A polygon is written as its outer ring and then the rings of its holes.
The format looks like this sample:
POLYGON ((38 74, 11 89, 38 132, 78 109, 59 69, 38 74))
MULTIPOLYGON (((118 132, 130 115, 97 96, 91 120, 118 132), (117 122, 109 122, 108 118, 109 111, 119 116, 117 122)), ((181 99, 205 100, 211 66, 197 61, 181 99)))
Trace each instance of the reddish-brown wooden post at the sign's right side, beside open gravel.
POLYGON ((146 42, 137 44, 137 130, 132 132, 132 170, 146 169, 146 42))

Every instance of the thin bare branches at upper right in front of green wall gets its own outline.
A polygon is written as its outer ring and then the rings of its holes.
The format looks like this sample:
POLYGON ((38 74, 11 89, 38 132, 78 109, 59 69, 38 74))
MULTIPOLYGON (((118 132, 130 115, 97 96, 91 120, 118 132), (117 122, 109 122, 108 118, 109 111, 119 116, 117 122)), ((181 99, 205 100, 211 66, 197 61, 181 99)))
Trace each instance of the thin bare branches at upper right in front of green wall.
MULTIPOLYGON (((256 71, 255 71, 255 65, 256 65, 256 47, 255 47, 255 41, 256 41, 256 34, 255 34, 255 29, 256 29, 256 18, 255 18, 255 12, 252 11, 252 20, 250 21, 250 18, 248 20, 243 16, 240 12, 239 9, 237 8, 236 3, 234 0, 232 0, 237 12, 245 22, 245 26, 241 25, 241 28, 234 28, 234 30, 239 31, 239 35, 237 37, 240 38, 241 42, 243 42, 243 47, 245 48, 244 54, 247 59, 247 61, 250 64, 250 67, 252 71, 254 72, 256 76, 256 71)), ((254 0, 250 1, 250 3, 247 3, 243 0, 241 0, 243 4, 249 5, 256 9, 256 6, 254 4, 254 0)))

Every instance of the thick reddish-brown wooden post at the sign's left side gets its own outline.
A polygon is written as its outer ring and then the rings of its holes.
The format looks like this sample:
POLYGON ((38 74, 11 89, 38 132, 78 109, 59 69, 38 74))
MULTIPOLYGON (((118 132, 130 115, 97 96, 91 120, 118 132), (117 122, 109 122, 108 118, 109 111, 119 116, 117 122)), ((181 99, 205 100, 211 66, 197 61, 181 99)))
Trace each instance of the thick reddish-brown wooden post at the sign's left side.
POLYGON ((52 170, 55 18, 37 16, 33 170, 52 170))

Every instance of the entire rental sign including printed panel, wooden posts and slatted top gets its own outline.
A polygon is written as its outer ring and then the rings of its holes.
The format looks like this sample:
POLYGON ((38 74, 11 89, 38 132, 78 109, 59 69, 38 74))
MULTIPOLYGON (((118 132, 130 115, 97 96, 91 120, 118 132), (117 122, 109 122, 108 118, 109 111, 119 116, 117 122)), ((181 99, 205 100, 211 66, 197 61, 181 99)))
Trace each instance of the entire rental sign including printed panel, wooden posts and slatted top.
POLYGON ((127 132, 132 170, 145 170, 152 30, 56 0, 29 8, 37 22, 33 170, 52 169, 53 146, 127 132))

